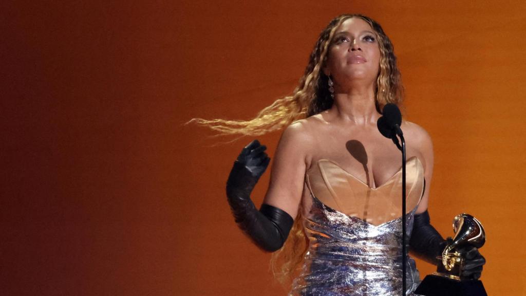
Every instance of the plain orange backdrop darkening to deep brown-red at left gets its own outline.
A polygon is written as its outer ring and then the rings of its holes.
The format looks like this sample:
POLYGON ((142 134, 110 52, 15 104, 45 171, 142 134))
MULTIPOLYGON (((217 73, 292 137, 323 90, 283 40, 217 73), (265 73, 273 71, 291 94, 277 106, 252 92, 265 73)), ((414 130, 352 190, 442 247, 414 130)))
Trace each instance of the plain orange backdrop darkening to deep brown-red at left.
POLYGON ((526 4, 348 0, 1 4, 1 294, 284 295, 224 194, 251 139, 182 124, 289 94, 341 13, 395 44, 434 141, 433 224, 477 216, 488 293, 526 295, 526 4))

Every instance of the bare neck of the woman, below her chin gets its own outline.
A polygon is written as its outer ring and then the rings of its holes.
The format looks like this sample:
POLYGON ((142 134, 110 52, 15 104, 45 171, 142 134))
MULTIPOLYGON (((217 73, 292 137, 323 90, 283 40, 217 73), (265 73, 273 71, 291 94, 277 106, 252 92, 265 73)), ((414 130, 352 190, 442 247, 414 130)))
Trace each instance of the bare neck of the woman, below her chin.
POLYGON ((373 87, 351 88, 345 93, 335 93, 331 107, 339 120, 359 125, 376 124, 380 114, 376 111, 373 87))

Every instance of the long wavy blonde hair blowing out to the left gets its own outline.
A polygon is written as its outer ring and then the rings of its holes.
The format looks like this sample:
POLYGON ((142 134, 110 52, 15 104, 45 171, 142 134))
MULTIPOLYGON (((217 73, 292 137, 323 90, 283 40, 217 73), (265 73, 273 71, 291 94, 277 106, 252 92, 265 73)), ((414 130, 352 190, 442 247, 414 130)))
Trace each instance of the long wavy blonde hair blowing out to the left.
MULTIPOLYGON (((322 68, 327 60, 327 53, 336 30, 343 21, 352 17, 366 21, 377 35, 380 48, 380 68, 375 90, 378 112, 381 113, 383 106, 387 103, 400 104, 403 88, 389 37, 383 32, 380 24, 367 16, 342 14, 332 19, 321 32, 310 54, 305 74, 300 78, 292 95, 276 100, 248 121, 193 119, 190 122, 207 126, 220 135, 257 136, 284 129, 296 120, 328 110, 333 100, 328 88, 328 76, 323 73, 322 68)), ((300 210, 284 246, 272 254, 271 269, 274 277, 282 284, 288 283, 299 272, 307 246, 308 241, 302 226, 300 210)))

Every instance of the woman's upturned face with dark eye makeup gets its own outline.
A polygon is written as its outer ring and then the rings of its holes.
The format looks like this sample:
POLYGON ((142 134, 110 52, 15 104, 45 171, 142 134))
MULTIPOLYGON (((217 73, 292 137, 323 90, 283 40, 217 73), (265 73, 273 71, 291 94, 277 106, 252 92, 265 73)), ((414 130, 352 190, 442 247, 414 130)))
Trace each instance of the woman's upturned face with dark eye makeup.
POLYGON ((336 29, 323 72, 336 86, 374 83, 378 76, 380 48, 371 26, 359 17, 348 18, 336 29))

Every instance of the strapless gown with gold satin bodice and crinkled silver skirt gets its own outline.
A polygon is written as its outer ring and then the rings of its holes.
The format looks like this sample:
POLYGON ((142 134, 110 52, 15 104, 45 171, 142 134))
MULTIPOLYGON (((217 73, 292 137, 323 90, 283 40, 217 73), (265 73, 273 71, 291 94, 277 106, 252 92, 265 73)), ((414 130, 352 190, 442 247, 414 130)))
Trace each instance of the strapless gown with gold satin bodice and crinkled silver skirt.
MULTIPOLYGON (((303 224, 309 247, 289 295, 401 294, 401 179, 400 170, 385 184, 370 188, 328 160, 307 172, 303 224)), ((409 237, 424 183, 417 157, 407 161, 406 180, 409 237)), ((407 258, 406 293, 415 295, 419 273, 407 258)))

